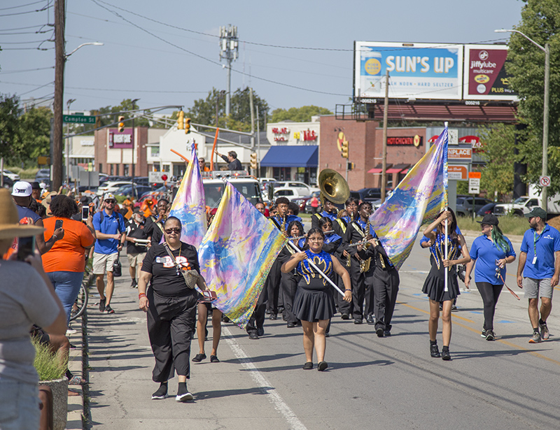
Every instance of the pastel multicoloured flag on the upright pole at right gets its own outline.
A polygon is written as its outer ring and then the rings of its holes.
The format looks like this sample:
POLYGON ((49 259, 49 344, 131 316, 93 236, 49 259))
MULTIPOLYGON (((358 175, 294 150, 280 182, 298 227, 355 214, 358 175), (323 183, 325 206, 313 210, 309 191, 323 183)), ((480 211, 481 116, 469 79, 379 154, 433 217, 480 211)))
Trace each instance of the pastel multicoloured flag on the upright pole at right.
POLYGON ((410 169, 386 201, 370 216, 391 264, 400 268, 422 224, 447 207, 447 127, 410 169))

